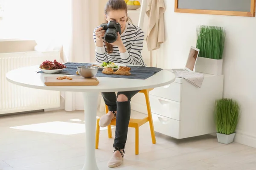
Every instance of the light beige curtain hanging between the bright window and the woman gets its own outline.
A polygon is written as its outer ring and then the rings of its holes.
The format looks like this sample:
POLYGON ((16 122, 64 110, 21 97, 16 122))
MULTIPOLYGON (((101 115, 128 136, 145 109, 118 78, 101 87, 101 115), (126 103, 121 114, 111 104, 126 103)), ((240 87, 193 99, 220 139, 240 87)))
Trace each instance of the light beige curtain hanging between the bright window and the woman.
MULTIPOLYGON (((93 29, 99 25, 98 0, 72 0, 71 23, 66 44, 63 44, 64 62, 94 62, 93 29)), ((83 110, 81 93, 64 92, 65 111, 83 110)))

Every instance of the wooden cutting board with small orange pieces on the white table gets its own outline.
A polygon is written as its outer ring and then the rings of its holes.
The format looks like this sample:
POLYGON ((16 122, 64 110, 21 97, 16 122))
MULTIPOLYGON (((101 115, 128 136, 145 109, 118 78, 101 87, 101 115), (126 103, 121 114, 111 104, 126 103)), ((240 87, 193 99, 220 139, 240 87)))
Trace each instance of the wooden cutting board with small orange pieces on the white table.
MULTIPOLYGON (((64 77, 64 76, 63 76, 64 77)), ((70 79, 57 79, 58 77, 44 77, 44 84, 47 86, 78 86, 78 85, 98 85, 96 77, 85 79, 81 76, 72 76, 70 79)))

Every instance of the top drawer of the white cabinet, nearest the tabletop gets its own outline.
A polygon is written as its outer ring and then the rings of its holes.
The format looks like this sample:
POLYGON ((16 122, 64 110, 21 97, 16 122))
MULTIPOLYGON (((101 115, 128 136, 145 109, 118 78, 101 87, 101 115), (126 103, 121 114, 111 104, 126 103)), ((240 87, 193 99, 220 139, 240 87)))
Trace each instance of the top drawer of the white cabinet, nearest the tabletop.
POLYGON ((154 88, 150 91, 151 95, 163 97, 165 99, 181 102, 181 85, 180 83, 173 82, 163 87, 154 88))

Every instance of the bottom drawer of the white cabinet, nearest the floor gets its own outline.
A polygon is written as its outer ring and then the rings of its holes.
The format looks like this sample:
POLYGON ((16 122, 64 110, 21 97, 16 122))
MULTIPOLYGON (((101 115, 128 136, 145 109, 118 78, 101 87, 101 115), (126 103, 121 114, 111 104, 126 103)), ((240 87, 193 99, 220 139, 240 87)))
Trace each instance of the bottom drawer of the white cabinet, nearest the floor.
POLYGON ((167 136, 180 139, 180 121, 152 113, 154 130, 167 136))

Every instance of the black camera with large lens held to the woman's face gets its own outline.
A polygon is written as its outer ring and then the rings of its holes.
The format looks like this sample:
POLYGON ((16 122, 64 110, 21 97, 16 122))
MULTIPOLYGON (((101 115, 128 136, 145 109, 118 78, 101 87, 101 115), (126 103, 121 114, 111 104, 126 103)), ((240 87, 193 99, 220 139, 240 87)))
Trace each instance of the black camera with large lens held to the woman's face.
POLYGON ((116 21, 109 21, 108 23, 104 23, 100 25, 104 30, 106 30, 104 34, 104 39, 108 43, 113 43, 117 40, 118 35, 117 32, 121 35, 121 25, 116 23, 116 21))

